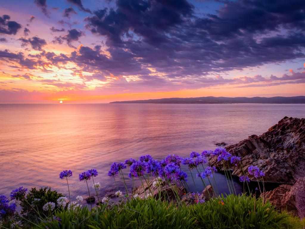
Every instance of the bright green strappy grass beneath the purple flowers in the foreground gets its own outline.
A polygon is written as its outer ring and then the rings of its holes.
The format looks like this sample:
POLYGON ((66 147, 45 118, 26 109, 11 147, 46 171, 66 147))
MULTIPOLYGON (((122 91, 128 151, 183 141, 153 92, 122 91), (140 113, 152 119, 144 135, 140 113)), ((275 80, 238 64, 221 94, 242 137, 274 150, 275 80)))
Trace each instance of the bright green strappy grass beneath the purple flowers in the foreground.
POLYGON ((276 211, 269 202, 246 195, 214 198, 204 204, 179 206, 160 200, 131 202, 90 210, 56 212, 61 222, 51 220, 35 228, 287 228, 303 229, 305 221, 276 211), (223 202, 222 202, 223 201, 223 202))

